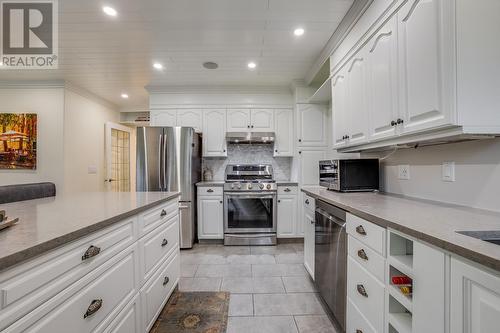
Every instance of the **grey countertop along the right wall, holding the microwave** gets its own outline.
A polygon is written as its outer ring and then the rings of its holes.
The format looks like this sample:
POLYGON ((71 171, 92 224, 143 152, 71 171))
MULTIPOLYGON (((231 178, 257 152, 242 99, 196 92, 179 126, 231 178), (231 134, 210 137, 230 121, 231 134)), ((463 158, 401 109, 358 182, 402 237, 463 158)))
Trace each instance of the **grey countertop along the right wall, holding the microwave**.
POLYGON ((383 227, 500 271, 500 246, 455 231, 500 230, 500 213, 382 193, 339 193, 303 187, 306 194, 383 227))

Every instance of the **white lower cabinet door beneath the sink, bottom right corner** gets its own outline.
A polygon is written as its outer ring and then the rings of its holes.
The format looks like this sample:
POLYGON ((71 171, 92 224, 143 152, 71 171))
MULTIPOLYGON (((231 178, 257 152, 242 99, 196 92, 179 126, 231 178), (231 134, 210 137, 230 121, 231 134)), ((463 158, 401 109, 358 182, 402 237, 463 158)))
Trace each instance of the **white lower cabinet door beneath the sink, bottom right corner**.
POLYGON ((450 332, 498 332, 500 274, 452 258, 450 306, 450 332))

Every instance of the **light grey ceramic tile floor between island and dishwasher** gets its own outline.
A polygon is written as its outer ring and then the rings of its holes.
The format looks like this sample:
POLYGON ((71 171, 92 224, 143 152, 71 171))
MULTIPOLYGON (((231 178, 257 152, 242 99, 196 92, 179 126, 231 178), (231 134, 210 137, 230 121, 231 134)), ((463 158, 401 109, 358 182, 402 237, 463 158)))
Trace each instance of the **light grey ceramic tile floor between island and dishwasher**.
POLYGON ((181 291, 228 291, 227 333, 335 333, 303 266, 303 244, 196 245, 181 251, 181 291))

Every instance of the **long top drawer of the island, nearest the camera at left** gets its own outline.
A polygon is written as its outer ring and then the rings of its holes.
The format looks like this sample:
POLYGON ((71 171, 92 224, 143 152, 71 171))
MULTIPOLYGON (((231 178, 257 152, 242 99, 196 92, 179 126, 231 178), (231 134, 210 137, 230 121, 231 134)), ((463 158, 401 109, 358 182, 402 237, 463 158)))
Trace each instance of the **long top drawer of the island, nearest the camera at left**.
POLYGON ((117 223, 92 236, 56 249, 40 258, 2 272, 0 330, 61 290, 96 269, 134 242, 136 219, 117 223), (94 246, 99 251, 83 260, 94 246))

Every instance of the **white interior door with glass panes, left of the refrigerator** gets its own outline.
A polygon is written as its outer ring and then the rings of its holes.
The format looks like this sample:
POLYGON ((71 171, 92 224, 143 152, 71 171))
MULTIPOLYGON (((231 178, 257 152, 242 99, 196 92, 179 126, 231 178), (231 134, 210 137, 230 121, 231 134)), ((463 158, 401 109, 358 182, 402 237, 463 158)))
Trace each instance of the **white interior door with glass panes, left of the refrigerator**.
POLYGON ((131 189, 132 129, 107 122, 105 125, 105 160, 107 191, 129 192, 131 189))

